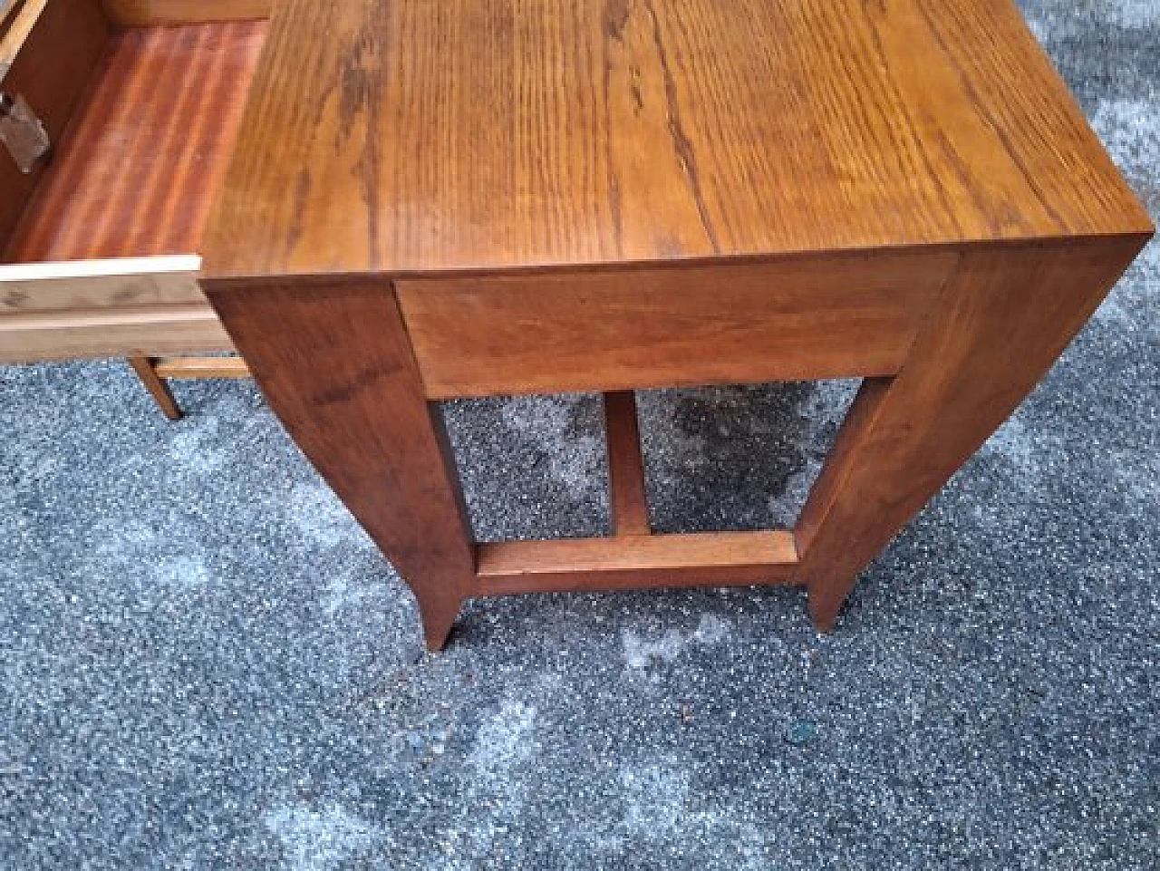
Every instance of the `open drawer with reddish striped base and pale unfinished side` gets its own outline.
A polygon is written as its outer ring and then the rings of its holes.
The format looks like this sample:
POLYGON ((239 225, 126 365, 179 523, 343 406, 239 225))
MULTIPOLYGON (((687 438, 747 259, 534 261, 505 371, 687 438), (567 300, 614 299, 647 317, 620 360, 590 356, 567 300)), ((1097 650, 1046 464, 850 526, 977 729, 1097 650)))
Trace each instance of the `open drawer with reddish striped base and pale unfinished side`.
POLYGON ((198 251, 267 5, 0 0, 0 362, 231 348, 198 251))

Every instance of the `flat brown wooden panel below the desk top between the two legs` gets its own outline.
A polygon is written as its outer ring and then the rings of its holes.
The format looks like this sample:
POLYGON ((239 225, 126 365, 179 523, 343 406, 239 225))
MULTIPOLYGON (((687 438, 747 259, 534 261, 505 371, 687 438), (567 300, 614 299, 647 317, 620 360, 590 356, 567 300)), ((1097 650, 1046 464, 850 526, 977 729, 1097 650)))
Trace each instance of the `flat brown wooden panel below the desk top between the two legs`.
POLYGON ((408 280, 432 399, 889 376, 954 252, 408 280))

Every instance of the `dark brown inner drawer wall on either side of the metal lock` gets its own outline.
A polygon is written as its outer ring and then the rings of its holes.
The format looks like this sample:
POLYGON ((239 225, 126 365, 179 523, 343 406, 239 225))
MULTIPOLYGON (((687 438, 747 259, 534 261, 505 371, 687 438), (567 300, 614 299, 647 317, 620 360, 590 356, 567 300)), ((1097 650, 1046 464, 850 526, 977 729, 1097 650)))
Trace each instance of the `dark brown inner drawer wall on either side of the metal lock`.
MULTIPOLYGON (((97 0, 52 0, 20 42, 3 89, 28 100, 53 143, 60 141, 108 36, 97 0)), ((23 175, 0 148, 0 251, 44 174, 42 164, 23 175)))

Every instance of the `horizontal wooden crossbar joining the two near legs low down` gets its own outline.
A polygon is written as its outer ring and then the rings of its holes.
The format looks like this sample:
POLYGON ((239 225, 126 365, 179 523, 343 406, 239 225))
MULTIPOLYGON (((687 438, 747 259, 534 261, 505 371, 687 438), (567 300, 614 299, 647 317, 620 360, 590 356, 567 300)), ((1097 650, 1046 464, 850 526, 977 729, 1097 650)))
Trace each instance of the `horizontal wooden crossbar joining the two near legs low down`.
POLYGON ((793 582, 793 534, 686 535, 494 542, 477 545, 483 596, 646 587, 793 582))

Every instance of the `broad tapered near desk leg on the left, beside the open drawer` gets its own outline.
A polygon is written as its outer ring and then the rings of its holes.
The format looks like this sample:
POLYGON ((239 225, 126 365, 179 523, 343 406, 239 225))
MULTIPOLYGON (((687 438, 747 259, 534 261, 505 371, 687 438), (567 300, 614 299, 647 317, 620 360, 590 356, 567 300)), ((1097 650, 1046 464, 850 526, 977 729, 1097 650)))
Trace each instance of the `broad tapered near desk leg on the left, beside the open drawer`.
POLYGON ((391 283, 205 290, 275 413, 411 586, 427 646, 442 647, 472 587, 474 549, 391 283))

